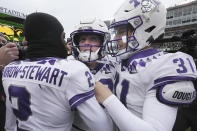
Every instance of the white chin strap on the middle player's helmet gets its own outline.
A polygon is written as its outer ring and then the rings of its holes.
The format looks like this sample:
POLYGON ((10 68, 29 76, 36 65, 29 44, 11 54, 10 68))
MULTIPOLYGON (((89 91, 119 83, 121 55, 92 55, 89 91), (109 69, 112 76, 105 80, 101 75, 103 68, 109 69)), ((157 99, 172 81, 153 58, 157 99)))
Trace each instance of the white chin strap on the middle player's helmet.
POLYGON ((100 48, 98 48, 96 52, 93 52, 91 50, 80 51, 79 60, 84 61, 84 62, 91 62, 91 61, 97 60, 99 50, 100 48))

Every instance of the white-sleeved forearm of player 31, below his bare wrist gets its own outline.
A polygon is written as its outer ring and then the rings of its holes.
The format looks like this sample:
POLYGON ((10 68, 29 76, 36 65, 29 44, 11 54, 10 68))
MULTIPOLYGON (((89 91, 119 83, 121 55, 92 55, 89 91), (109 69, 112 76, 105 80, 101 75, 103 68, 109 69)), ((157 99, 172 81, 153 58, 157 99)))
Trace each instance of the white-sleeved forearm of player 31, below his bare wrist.
POLYGON ((121 131, 156 131, 151 124, 133 115, 114 95, 103 105, 121 131))

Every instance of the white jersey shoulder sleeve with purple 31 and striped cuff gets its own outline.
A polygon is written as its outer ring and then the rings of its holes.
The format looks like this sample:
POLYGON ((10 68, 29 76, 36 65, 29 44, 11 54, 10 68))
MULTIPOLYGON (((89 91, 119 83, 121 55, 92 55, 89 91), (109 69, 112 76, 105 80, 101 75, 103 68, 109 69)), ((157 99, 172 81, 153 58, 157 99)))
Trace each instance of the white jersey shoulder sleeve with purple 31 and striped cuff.
POLYGON ((182 52, 165 54, 161 59, 150 64, 143 75, 147 83, 152 82, 152 89, 177 81, 192 81, 197 78, 193 58, 182 52))

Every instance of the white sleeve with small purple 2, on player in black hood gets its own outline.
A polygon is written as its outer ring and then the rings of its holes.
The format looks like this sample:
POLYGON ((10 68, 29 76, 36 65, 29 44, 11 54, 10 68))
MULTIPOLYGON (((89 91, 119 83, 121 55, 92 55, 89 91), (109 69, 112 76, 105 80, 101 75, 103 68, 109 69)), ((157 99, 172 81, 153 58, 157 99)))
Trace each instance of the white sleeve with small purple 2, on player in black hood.
POLYGON ((67 86, 69 88, 66 89, 66 97, 72 110, 94 96, 95 82, 92 73, 84 64, 77 62, 75 64, 78 66, 68 74, 70 82, 67 86))

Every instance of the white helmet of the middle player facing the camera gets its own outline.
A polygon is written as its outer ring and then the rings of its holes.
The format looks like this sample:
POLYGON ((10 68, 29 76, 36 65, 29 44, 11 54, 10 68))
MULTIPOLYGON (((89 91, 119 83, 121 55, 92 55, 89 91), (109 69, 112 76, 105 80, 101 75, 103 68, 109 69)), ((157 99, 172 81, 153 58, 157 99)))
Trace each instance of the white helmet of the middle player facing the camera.
MULTIPOLYGON (((83 20, 75 30, 70 34, 73 42, 73 54, 75 58, 83 62, 93 62, 103 58, 105 53, 106 43, 110 40, 110 34, 106 24, 98 19, 83 20), (79 36, 84 34, 94 34, 99 36, 101 43, 96 52, 91 51, 91 47, 95 45, 79 45, 79 36), (80 51, 80 47, 90 47, 89 51, 80 51)), ((98 47, 98 46, 97 46, 98 47)))

